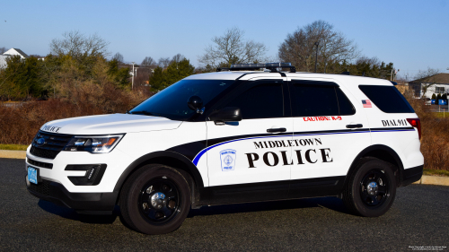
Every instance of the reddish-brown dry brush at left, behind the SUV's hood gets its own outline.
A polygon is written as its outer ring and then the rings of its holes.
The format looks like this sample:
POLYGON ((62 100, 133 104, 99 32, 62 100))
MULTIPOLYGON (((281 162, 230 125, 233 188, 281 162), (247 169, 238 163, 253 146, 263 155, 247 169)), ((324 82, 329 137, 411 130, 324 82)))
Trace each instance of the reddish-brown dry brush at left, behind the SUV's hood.
POLYGON ((64 99, 31 101, 16 108, 0 106, 0 143, 30 144, 40 126, 48 121, 125 113, 146 97, 142 92, 121 91, 113 86, 82 86, 64 99))

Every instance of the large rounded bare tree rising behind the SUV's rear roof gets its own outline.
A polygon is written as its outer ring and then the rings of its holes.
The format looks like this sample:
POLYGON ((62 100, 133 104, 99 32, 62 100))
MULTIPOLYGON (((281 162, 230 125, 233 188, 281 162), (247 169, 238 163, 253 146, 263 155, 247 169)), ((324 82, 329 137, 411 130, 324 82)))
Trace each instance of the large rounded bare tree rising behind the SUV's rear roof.
POLYGON ((353 40, 335 31, 329 22, 315 21, 287 34, 277 56, 283 62, 291 62, 299 71, 311 72, 317 49, 318 63, 323 73, 327 72, 329 65, 348 63, 359 55, 353 40))

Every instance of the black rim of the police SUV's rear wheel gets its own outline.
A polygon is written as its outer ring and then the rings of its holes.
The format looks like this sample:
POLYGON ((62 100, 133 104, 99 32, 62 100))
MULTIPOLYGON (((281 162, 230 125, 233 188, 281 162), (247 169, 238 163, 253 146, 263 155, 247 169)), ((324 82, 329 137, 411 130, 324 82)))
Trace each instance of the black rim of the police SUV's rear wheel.
POLYGON ((368 207, 382 205, 390 196, 389 186, 390 181, 382 170, 369 170, 360 182, 362 202, 368 207))

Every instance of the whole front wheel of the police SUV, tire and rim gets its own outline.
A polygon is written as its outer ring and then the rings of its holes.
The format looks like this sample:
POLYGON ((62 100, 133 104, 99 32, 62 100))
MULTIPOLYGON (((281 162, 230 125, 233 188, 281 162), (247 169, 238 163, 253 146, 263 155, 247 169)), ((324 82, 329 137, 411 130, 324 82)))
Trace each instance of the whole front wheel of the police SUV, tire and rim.
POLYGON ((169 233, 180 228, 189 213, 189 183, 176 169, 145 165, 128 178, 119 204, 130 228, 145 234, 169 233))

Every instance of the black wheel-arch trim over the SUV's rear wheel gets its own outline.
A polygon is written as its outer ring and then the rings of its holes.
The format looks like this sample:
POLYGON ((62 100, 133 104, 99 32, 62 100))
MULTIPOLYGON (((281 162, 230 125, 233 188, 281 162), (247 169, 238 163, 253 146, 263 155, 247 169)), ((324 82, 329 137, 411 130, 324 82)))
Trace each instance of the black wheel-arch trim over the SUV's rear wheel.
MULTIPOLYGON (((354 169, 356 169, 357 162, 361 158, 367 156, 367 154, 369 152, 374 152, 374 151, 388 152, 392 156, 392 160, 391 160, 390 157, 385 157, 385 159, 381 159, 381 160, 383 160, 383 161, 390 161, 390 162, 394 161, 396 163, 396 165, 399 168, 399 170, 398 170, 399 171, 399 176, 398 176, 398 178, 399 178, 398 182, 399 183, 398 183, 397 186, 398 187, 401 186, 402 174, 404 173, 404 166, 402 164, 401 158, 399 157, 398 153, 396 153, 392 148, 390 148, 390 147, 388 147, 386 145, 383 145, 383 144, 374 144, 374 145, 368 146, 368 147, 365 148, 365 150, 363 150, 362 152, 358 153, 356 159, 354 159, 354 161, 352 161, 351 166, 350 166, 350 168, 348 170, 348 174, 346 175, 346 178, 345 178, 345 185, 347 183, 347 180, 350 178, 350 174, 354 171, 354 169)), ((374 157, 376 157, 376 156, 374 155, 374 157)))

